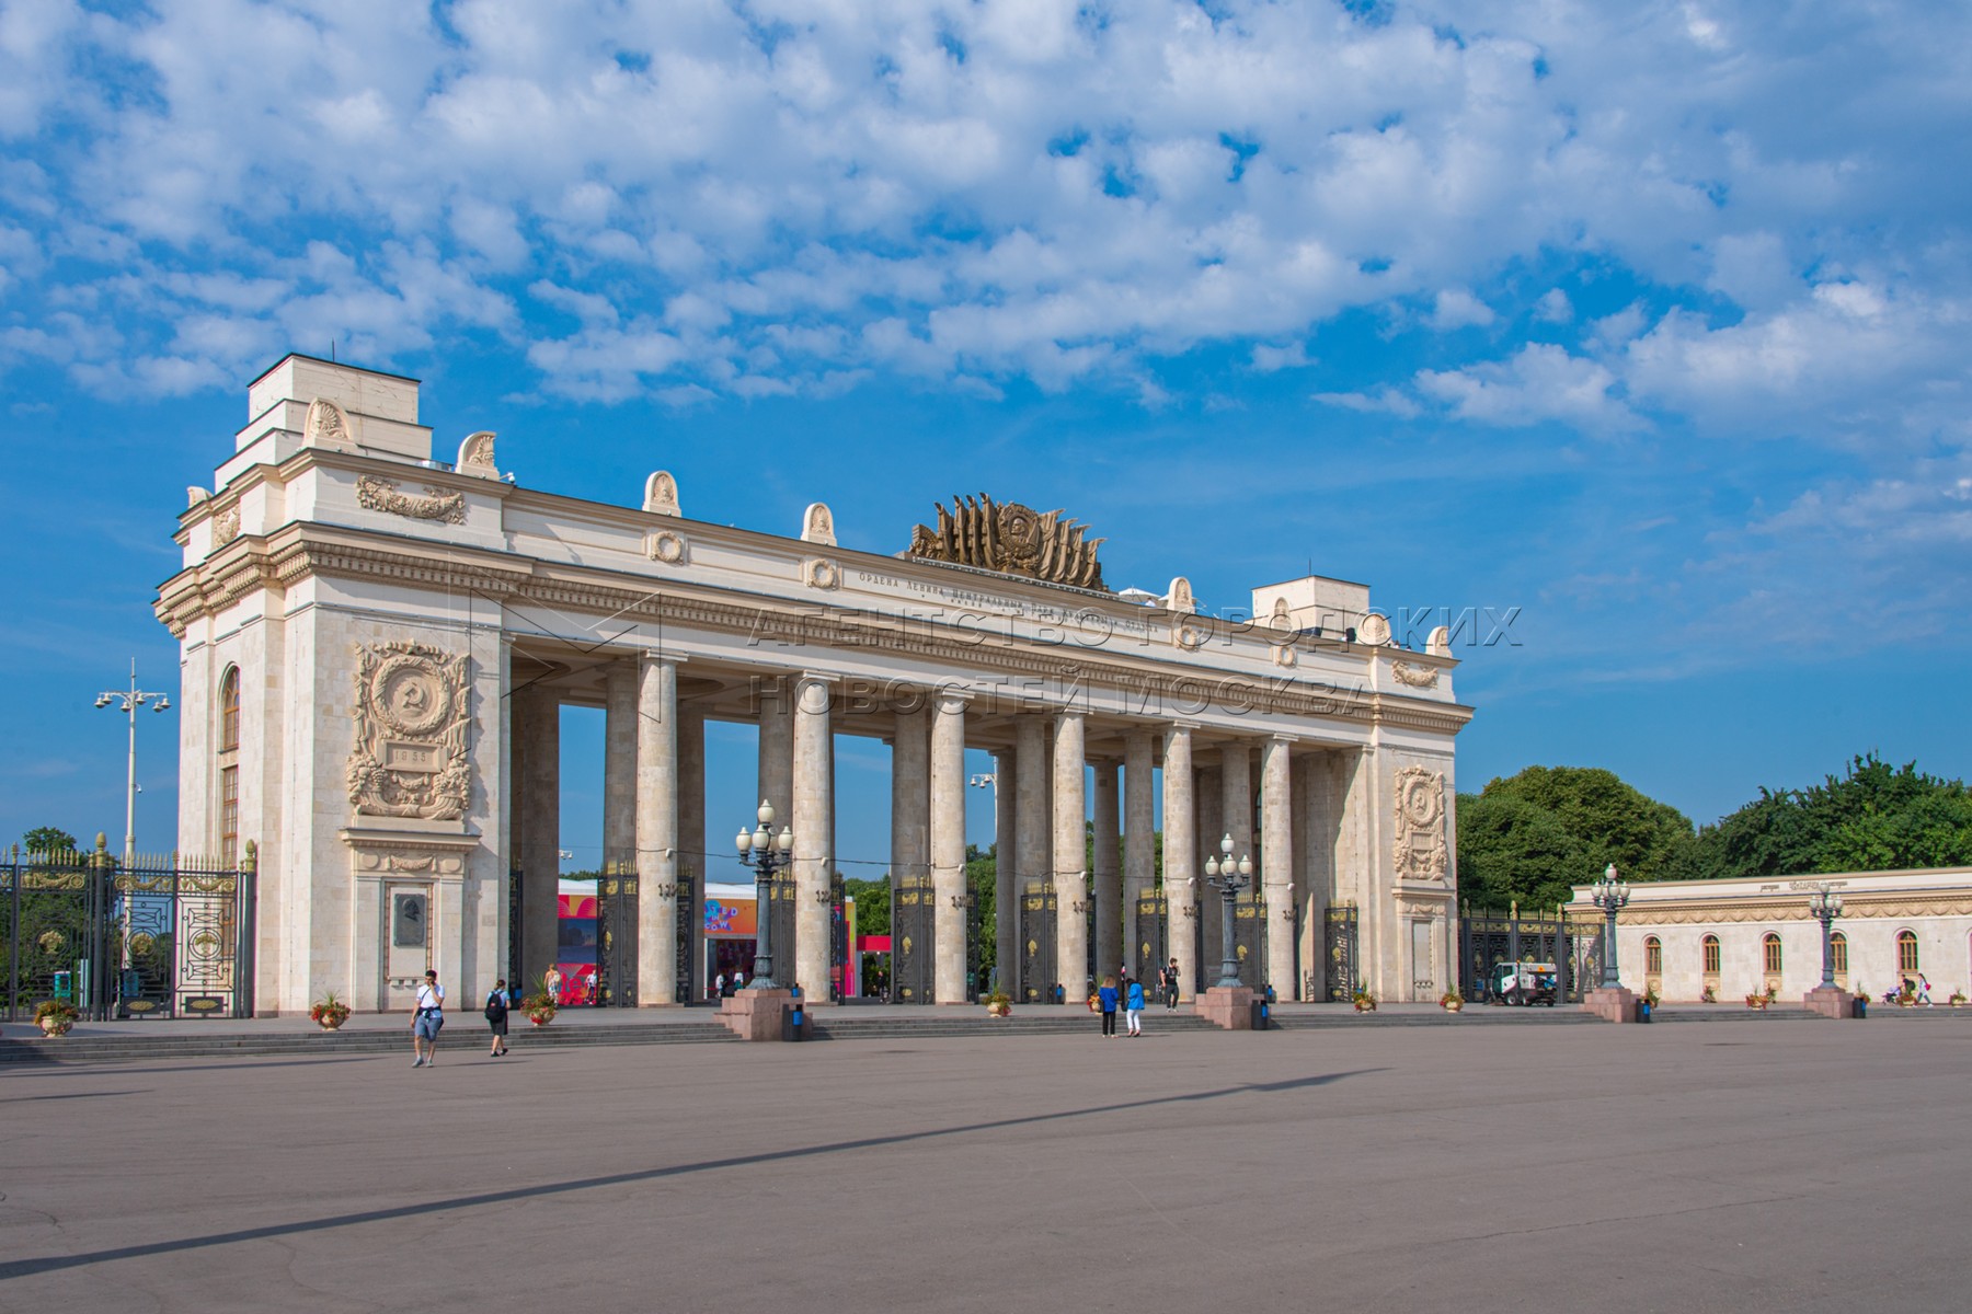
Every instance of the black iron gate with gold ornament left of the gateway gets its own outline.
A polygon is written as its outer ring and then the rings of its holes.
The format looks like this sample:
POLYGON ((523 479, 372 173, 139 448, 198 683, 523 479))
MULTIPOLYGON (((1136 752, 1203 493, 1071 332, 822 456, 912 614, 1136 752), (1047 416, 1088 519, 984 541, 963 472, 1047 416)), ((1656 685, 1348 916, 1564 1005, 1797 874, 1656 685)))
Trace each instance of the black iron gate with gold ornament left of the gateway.
POLYGON ((93 853, 0 865, 6 1017, 45 999, 83 1017, 252 1017, 254 849, 241 867, 93 853))

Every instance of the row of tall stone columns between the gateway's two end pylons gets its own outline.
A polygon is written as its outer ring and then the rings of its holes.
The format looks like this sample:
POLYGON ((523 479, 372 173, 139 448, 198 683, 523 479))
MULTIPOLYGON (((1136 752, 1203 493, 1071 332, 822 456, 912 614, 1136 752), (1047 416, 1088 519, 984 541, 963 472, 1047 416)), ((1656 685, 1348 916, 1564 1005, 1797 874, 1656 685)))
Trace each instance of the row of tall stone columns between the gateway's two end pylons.
MULTIPOLYGON (((639 1005, 684 1003, 702 989, 702 916, 682 904, 704 892, 704 723, 680 701, 680 666, 649 654, 611 662, 605 678, 603 847, 605 875, 633 871, 639 1005), (680 926, 688 918, 688 928, 680 926), (692 979, 680 983, 674 946, 690 934, 692 979)), ((775 977, 799 983, 810 999, 828 995, 830 877, 834 849, 832 680, 791 672, 757 682, 757 792, 775 808, 775 831, 791 825, 791 944, 775 942, 775 977)), ((558 871, 558 697, 536 684, 515 691, 513 780, 517 798, 511 843, 525 871, 558 871)), ((891 853, 897 877, 929 875, 933 896, 933 979, 937 1003, 968 995, 966 936, 966 741, 974 707, 960 691, 921 693, 887 713, 891 745, 891 853)), ((1351 859, 1339 839, 1347 800, 1333 778, 1353 774, 1365 751, 1300 745, 1284 735, 1232 739, 1225 727, 1104 723, 1085 711, 1021 711, 994 717, 996 825, 1002 863, 996 881, 994 938, 998 983, 1081 989, 1083 963, 1094 975, 1136 971, 1140 900, 1160 888, 1156 873, 1156 772, 1163 774, 1163 953, 1177 959, 1189 995, 1217 975, 1221 908, 1203 881, 1205 861, 1231 835, 1234 857, 1254 859, 1254 887, 1264 898, 1260 963, 1244 967, 1248 985, 1272 983, 1298 999, 1309 973, 1319 975, 1321 918, 1351 859), (1091 756, 1091 731, 1106 756, 1091 756), (1205 747, 1195 741, 1205 739, 1205 747), (1116 745, 1122 753, 1116 756, 1116 745), (1254 770, 1258 766, 1258 770, 1254 770), (1092 784, 1091 784, 1092 782, 1092 784), (1094 818, 1094 843, 1087 818, 1094 818), (1021 981, 1021 896, 1055 896, 1055 981, 1021 981), (1091 916, 1092 912, 1092 916, 1091 916), (1094 944, 1089 928, 1094 926, 1094 944)), ((870 731, 862 721, 860 731, 870 731)), ((751 802, 751 800, 747 800, 751 802)), ((751 818, 747 810, 745 818, 751 818)), ((523 971, 528 979, 552 961, 554 881, 523 885, 523 971)), ((1252 898, 1248 888, 1242 898, 1252 898)), ((759 912, 767 916, 767 912, 759 912)), ((783 926, 783 922, 777 922, 783 926)))

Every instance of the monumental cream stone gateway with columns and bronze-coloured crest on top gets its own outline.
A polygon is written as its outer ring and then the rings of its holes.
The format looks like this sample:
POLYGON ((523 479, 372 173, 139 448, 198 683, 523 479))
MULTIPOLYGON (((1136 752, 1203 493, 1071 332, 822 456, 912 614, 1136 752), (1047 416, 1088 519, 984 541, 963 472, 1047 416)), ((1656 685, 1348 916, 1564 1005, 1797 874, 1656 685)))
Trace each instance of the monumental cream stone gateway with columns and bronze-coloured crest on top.
POLYGON ((1248 985, 1453 981, 1471 709, 1442 630, 1396 646, 1369 589, 1323 577, 1254 589, 1250 619, 1199 613, 1185 579, 1112 593, 1100 540, 1014 502, 958 498, 876 556, 824 504, 783 536, 639 479, 635 506, 521 489, 493 433, 438 461, 410 378, 288 357, 252 382, 156 609, 181 642, 179 845, 258 847, 260 1011, 554 961, 564 703, 607 713, 603 1003, 702 997, 698 890, 732 849, 706 835, 706 721, 759 727, 759 794, 795 835, 777 977, 810 999, 840 955, 836 735, 891 745, 899 999, 962 1001, 984 938, 1035 999, 1163 957, 1209 985, 1227 835, 1254 863, 1248 985), (992 926, 964 883, 966 749, 998 762, 992 926))

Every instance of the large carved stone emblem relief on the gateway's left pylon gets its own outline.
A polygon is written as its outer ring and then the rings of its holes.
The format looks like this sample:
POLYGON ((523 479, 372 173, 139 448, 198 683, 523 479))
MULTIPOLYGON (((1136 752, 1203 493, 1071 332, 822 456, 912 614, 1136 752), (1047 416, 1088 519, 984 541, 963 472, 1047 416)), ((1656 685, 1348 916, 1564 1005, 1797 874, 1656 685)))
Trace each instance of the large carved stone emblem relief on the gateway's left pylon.
POLYGON ((471 762, 467 658, 420 642, 357 644, 357 743, 349 804, 357 814, 456 821, 471 762))

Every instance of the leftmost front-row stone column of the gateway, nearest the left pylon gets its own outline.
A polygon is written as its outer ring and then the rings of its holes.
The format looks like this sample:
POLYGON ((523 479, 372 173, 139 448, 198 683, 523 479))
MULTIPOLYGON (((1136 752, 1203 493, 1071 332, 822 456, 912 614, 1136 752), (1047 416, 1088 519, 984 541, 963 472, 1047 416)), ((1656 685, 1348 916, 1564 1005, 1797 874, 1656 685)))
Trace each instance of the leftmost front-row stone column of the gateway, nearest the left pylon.
POLYGON ((678 1003, 678 664, 637 672, 637 1005, 678 1003))

